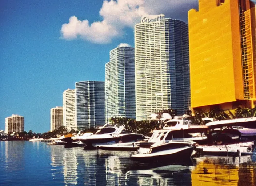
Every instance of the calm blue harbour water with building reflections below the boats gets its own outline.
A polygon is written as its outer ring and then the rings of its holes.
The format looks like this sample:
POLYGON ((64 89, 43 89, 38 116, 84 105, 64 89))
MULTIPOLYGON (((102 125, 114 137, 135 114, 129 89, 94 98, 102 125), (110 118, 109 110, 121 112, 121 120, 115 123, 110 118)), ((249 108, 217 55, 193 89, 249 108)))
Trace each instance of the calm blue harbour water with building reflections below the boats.
POLYGON ((136 165, 130 161, 132 154, 0 141, 0 185, 256 185, 256 154, 200 157, 190 164, 162 167, 136 165))

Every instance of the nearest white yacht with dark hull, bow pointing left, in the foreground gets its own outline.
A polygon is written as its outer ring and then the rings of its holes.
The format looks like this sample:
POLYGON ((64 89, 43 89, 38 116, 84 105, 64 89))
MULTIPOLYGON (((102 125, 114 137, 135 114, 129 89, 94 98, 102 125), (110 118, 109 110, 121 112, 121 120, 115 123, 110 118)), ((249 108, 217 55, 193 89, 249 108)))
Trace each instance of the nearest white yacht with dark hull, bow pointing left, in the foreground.
POLYGON ((148 143, 141 143, 136 154, 131 156, 133 161, 184 161, 191 158, 197 145, 193 141, 173 140, 172 130, 161 130, 155 137, 149 139, 148 143))

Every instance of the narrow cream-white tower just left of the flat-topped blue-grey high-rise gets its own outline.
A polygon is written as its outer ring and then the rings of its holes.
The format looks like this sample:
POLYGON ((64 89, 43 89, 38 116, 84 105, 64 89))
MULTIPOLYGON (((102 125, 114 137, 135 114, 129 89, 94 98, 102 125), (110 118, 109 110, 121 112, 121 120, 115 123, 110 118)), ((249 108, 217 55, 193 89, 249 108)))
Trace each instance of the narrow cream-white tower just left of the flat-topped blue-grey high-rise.
POLYGON ((67 89, 63 92, 63 126, 68 130, 75 129, 75 90, 67 89))

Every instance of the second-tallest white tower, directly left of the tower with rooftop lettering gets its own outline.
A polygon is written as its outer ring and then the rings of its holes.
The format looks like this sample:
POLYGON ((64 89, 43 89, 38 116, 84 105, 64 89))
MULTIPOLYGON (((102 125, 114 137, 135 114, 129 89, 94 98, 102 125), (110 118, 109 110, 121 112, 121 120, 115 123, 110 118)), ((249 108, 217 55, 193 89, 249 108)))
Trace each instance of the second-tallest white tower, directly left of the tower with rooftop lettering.
POLYGON ((120 44, 105 65, 106 122, 109 118, 136 118, 134 48, 120 44))

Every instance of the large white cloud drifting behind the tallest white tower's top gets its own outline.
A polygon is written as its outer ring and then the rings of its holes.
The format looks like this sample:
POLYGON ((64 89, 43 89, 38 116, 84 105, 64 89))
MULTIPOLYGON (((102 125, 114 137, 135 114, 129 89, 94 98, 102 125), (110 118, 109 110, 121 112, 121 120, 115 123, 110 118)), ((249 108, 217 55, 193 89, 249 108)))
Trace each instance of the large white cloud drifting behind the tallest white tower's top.
POLYGON ((88 20, 69 18, 61 27, 61 37, 81 38, 93 43, 110 43, 121 37, 126 27, 133 28, 143 15, 163 13, 165 17, 187 21, 187 12, 197 7, 198 0, 104 0, 99 11, 103 21, 89 24, 88 20))

